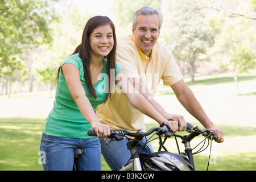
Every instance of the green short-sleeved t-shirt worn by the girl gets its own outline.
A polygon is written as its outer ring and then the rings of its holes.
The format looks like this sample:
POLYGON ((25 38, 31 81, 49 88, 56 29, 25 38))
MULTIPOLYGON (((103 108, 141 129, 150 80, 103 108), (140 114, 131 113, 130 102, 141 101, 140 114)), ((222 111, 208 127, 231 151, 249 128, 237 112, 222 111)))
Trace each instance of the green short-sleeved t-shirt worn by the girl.
MULTIPOLYGON (((93 85, 94 89, 96 90, 96 99, 94 99, 93 96, 88 93, 86 88, 84 68, 82 66, 82 60, 79 57, 79 53, 67 57, 63 64, 65 63, 74 64, 79 69, 80 80, 85 90, 86 97, 88 97, 90 104, 96 113, 97 106, 102 104, 105 100, 105 90, 108 88, 108 75, 106 75, 107 60, 105 58, 103 59, 104 69, 101 80, 93 85)), ((117 74, 119 71, 121 71, 121 69, 121 66, 116 63, 117 74)), ((57 81, 55 101, 53 102, 53 109, 46 119, 46 125, 44 126, 43 133, 56 137, 82 139, 90 138, 87 135, 87 131, 91 129, 92 126, 80 113, 75 101, 71 96, 71 93, 69 92, 64 75, 62 71, 60 71, 59 80, 57 81)))

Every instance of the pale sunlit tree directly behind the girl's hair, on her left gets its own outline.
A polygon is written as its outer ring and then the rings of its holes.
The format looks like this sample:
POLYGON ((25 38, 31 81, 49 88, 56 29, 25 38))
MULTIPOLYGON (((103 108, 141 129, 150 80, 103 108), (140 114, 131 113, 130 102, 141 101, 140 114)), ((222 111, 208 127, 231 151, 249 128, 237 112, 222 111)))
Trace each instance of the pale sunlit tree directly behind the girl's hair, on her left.
MULTIPOLYGON (((63 5, 64 6, 64 5, 63 5)), ((81 43, 84 26, 91 16, 82 12, 75 5, 68 5, 68 10, 53 22, 53 42, 50 46, 42 46, 36 58, 35 74, 39 74, 39 81, 48 84, 49 92, 55 85, 57 70, 66 57, 71 55, 81 43)))

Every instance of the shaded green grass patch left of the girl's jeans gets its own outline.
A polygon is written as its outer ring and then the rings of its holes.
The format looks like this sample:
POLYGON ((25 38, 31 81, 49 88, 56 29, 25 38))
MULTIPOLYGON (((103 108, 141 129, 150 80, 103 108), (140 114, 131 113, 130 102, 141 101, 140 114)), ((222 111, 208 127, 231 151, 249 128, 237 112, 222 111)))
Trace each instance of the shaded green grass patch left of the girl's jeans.
POLYGON ((44 119, 0 119, 0 170, 42 170, 38 164, 44 119))

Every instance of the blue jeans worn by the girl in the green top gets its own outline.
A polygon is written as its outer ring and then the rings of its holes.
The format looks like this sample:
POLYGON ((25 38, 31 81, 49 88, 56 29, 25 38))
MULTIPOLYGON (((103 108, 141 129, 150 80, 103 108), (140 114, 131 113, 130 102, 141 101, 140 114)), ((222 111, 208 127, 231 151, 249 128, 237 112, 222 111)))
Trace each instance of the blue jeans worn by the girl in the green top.
POLYGON ((100 171, 101 147, 98 137, 76 139, 43 134, 40 152, 44 171, 72 171, 77 147, 86 151, 77 159, 77 170, 100 171))

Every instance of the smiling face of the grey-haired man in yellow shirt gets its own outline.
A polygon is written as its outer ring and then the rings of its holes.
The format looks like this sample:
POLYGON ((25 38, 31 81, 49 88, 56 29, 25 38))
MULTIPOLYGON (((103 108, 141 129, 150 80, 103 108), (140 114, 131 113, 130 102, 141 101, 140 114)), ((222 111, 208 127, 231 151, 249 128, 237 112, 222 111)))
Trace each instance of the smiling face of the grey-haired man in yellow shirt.
POLYGON ((137 27, 133 27, 133 35, 138 47, 146 56, 150 56, 151 50, 158 40, 159 31, 158 15, 138 15, 137 27))

